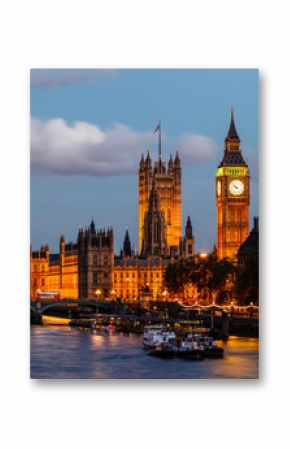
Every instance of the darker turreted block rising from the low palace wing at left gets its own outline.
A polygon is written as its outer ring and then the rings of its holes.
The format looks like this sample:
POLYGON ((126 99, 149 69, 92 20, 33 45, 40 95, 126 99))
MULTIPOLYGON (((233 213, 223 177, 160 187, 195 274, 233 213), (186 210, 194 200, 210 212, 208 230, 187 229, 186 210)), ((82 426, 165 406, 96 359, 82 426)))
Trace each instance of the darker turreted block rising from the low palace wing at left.
POLYGON ((114 235, 113 229, 96 231, 92 221, 78 233, 79 297, 98 299, 109 297, 113 286, 114 235))

